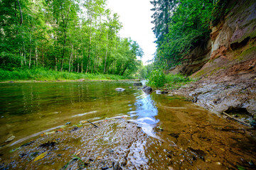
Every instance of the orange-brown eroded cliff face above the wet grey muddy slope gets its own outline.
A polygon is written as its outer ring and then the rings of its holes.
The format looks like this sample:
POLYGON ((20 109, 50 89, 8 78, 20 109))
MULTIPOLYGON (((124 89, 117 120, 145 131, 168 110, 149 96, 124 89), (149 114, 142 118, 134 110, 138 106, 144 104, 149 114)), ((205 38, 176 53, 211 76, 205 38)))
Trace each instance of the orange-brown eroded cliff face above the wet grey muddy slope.
MULTIPOLYGON (((210 40, 201 42, 172 74, 208 77, 256 56, 256 1, 230 1, 223 20, 214 23, 210 40)), ((255 67, 255 64, 252 64, 255 67)), ((220 77, 221 78, 221 77, 220 77)))

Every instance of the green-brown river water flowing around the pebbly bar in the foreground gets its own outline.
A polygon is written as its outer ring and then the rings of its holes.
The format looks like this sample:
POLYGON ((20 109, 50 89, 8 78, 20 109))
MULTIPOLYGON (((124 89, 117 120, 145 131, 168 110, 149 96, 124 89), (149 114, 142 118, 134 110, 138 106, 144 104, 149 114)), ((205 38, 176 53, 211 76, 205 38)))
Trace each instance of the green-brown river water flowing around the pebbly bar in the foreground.
MULTIPOLYGON (((7 150, 66 123, 98 122, 121 116, 163 143, 161 147, 166 149, 161 151, 157 151, 153 142, 144 148, 144 153, 154 150, 157 154, 149 153, 146 164, 153 164, 150 157, 168 158, 163 159, 166 164, 152 165, 154 169, 256 167, 255 130, 220 118, 186 98, 145 94, 132 82, 0 84, 0 108, 0 156, 3 159, 7 150), (117 87, 126 90, 115 91, 117 87), (12 136, 13 140, 5 142, 12 136), (191 153, 198 157, 196 165, 191 163, 196 160, 191 153), (191 162, 185 163, 186 158, 191 162)), ((140 168, 149 169, 149 166, 140 168)))

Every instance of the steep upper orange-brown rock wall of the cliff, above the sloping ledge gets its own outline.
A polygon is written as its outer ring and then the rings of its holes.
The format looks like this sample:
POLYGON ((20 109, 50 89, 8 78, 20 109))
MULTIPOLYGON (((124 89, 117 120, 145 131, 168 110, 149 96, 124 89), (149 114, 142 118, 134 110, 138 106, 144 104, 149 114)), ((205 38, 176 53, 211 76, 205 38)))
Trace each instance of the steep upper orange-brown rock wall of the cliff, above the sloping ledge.
MULTIPOLYGON (((229 6, 233 5, 233 1, 229 6)), ((223 22, 212 28, 212 50, 210 58, 226 56, 228 50, 236 50, 255 38, 255 1, 239 1, 223 22)), ((235 57, 235 56, 234 56, 235 57)))

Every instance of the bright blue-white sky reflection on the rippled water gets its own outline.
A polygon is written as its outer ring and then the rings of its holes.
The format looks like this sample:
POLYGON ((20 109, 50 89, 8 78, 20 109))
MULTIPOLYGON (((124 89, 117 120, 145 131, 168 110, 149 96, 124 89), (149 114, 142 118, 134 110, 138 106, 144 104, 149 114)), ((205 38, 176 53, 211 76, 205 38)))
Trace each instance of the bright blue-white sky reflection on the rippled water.
POLYGON ((134 122, 142 125, 142 130, 149 136, 159 138, 154 132, 154 127, 156 123, 159 123, 159 119, 156 119, 155 116, 158 114, 156 105, 151 98, 150 94, 145 94, 143 91, 138 91, 134 94, 136 101, 134 106, 136 111, 130 111, 134 122))

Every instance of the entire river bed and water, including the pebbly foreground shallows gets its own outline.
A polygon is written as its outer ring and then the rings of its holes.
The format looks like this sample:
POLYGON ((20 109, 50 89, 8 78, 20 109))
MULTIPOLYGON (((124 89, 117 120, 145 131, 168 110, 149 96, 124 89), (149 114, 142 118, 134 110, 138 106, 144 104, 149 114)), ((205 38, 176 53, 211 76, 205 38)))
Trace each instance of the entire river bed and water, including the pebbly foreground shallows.
POLYGON ((255 130, 133 82, 0 84, 0 108, 0 169, 256 168, 255 130))

